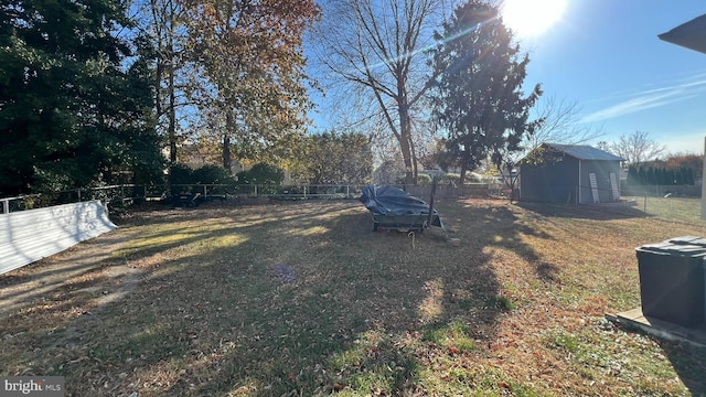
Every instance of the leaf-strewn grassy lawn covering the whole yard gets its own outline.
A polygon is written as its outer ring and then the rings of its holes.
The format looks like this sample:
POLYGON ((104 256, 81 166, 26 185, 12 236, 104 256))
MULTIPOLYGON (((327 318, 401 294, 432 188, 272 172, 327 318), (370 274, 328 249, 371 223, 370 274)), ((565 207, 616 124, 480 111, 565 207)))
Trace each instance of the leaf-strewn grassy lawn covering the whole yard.
POLYGON ((0 276, 0 374, 65 375, 67 396, 706 393, 706 350, 603 319, 640 305, 634 247, 704 224, 438 210, 460 246, 374 233, 357 202, 135 213, 0 276))

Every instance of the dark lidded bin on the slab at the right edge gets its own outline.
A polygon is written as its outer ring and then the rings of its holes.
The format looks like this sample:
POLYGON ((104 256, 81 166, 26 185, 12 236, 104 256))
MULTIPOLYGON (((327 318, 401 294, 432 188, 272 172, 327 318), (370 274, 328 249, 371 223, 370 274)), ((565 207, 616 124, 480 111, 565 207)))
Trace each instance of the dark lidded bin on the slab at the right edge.
POLYGON ((675 237, 635 250, 642 313, 687 328, 702 324, 706 239, 675 237))

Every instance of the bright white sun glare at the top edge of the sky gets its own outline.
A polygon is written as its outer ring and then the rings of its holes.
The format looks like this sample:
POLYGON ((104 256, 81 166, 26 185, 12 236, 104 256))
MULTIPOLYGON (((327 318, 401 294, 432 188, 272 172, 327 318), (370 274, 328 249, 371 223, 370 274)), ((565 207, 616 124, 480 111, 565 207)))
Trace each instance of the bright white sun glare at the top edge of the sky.
POLYGON ((566 0, 505 0, 503 22, 521 37, 539 35, 561 18, 566 0))

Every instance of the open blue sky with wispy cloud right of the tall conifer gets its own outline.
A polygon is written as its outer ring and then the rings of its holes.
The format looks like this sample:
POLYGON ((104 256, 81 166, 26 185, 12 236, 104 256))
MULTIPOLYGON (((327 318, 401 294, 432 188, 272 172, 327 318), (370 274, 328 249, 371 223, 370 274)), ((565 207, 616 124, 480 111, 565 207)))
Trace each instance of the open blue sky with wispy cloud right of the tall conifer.
POLYGON ((567 0, 558 22, 521 42, 531 57, 526 86, 576 101, 600 140, 639 130, 671 152, 700 154, 706 54, 657 34, 704 13, 703 0, 567 0))

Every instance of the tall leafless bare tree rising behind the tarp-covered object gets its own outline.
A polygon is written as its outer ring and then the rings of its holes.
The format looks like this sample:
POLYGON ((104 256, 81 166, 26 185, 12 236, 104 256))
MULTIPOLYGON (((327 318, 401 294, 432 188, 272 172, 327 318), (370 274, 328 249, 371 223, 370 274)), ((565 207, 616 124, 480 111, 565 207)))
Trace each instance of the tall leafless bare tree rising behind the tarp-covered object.
POLYGON ((439 0, 331 0, 323 4, 317 32, 320 62, 350 87, 346 95, 370 99, 356 109, 364 111, 361 119, 383 118, 398 144, 406 183, 417 176, 415 126, 429 117, 421 106, 429 87, 421 52, 432 43, 443 6, 439 0))

